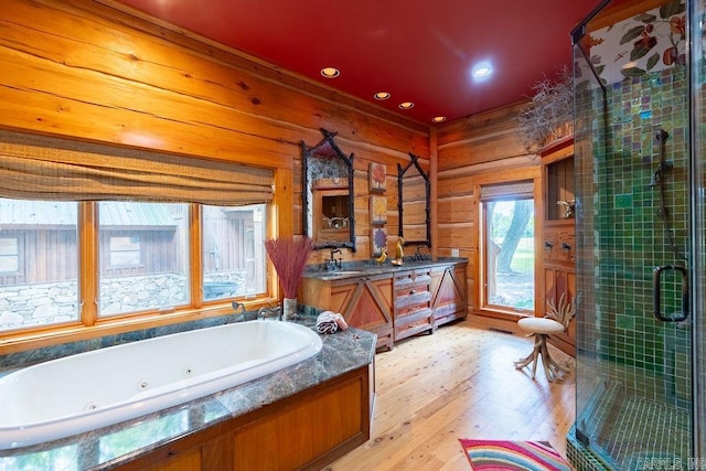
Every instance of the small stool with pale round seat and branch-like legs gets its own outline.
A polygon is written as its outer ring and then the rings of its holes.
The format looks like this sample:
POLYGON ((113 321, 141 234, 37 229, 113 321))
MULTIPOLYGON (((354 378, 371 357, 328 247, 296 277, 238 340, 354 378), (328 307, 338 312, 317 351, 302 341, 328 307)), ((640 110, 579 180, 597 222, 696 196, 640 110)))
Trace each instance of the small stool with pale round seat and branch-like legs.
POLYGON ((527 357, 517 360, 515 362, 515 368, 520 370, 533 363, 532 379, 534 379, 537 363, 539 363, 539 356, 542 356, 542 364, 544 365, 544 373, 547 379, 550 382, 564 379, 564 373, 568 373, 569 368, 558 364, 552 358, 549 350, 547 349, 547 335, 564 332, 564 324, 547 318, 523 318, 517 321, 517 327, 528 332, 530 335, 534 335, 534 350, 527 357))

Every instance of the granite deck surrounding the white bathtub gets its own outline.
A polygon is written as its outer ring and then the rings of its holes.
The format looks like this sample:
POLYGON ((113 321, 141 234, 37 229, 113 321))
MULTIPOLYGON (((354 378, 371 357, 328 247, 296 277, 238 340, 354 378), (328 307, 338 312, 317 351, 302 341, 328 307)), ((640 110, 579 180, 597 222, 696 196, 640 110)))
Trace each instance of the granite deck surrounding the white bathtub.
MULTIPOLYGON (((278 322, 278 321, 272 321, 278 322)), ((313 325, 314 320, 302 323, 313 325)), ((240 386, 114 426, 17 450, 0 451, 0 469, 109 470, 197 432, 367 365, 376 336, 359 329, 322 335, 314 356, 240 386)))

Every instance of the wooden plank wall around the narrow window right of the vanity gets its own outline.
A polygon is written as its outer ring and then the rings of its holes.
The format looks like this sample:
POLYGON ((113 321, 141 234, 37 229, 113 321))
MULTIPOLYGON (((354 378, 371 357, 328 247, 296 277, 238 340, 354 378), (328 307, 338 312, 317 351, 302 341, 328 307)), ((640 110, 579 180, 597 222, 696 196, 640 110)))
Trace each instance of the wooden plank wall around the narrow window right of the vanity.
MULTIPOLYGON (((539 158, 518 138, 525 103, 474 115, 437 130, 437 214, 439 256, 458 249, 469 259, 469 311, 479 310, 479 222, 481 184, 539 178, 539 158)), ((535 192, 536 193, 536 192, 535 192)), ((539 227, 535 224, 535 227, 539 227)))

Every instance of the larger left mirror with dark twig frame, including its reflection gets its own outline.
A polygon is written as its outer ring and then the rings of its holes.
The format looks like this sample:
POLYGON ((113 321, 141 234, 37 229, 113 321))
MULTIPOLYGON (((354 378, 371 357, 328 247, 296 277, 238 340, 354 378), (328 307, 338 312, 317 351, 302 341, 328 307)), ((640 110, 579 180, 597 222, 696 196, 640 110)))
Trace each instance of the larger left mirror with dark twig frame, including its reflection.
POLYGON ((355 251, 353 212, 353 154, 344 154, 333 138, 321 129, 323 139, 313 147, 301 146, 301 200, 303 233, 314 249, 350 248, 355 251))

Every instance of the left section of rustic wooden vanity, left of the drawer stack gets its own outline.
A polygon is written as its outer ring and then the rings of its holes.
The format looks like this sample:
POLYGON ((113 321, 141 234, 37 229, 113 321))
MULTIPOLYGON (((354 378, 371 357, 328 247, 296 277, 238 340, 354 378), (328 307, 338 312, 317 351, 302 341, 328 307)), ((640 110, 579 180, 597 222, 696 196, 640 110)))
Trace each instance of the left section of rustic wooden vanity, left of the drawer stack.
POLYGON ((391 275, 373 275, 339 280, 307 278, 300 290, 300 302, 339 312, 350 327, 377 334, 377 349, 392 350, 393 279, 391 275))

